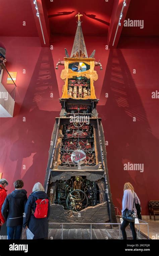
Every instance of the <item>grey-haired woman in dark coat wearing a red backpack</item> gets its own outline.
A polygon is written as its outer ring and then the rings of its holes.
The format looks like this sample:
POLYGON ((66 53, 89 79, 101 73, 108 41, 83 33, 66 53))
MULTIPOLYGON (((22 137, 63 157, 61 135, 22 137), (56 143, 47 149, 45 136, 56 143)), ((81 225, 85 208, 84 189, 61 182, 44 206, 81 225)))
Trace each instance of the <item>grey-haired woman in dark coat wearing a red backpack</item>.
POLYGON ((29 228, 34 234, 33 239, 48 238, 48 221, 50 215, 50 202, 48 195, 40 182, 33 187, 25 205, 23 228, 29 228))

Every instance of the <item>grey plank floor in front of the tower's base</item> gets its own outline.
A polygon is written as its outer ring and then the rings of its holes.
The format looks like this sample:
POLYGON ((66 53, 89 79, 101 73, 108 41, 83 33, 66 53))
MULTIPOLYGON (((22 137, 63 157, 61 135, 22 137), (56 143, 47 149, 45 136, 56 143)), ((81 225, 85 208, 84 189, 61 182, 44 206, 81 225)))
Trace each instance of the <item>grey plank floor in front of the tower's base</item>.
MULTIPOLYGON (((132 233, 129 227, 126 228, 127 239, 132 239, 132 233)), ((122 239, 122 234, 120 232, 122 239)), ((62 239, 61 228, 49 229, 48 239, 62 239)), ((89 228, 64 228, 63 239, 91 239, 91 229, 89 228)), ((92 239, 119 239, 119 228, 95 228, 92 229, 92 239)), ((147 239, 144 235, 140 234, 137 239, 147 239)))

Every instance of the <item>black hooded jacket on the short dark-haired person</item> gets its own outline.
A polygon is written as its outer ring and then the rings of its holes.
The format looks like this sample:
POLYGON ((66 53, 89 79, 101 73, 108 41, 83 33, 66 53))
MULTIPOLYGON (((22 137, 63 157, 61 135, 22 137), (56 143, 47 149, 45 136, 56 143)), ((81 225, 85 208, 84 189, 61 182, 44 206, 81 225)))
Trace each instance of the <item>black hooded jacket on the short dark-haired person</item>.
POLYGON ((27 202, 27 191, 18 189, 7 195, 2 205, 2 215, 7 221, 7 227, 22 226, 23 213, 27 202))

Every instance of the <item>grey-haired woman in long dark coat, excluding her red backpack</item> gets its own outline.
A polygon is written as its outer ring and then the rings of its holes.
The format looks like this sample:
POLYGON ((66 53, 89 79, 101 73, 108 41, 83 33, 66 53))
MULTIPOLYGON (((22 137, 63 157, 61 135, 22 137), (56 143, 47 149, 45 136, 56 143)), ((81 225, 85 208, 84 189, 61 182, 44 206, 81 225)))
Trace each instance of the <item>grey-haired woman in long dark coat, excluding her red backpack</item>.
POLYGON ((34 217, 36 209, 36 200, 38 199, 49 199, 48 195, 41 183, 36 183, 33 187, 33 193, 30 194, 28 201, 25 205, 23 228, 29 228, 34 234, 33 239, 45 239, 48 237, 48 221, 50 215, 50 202, 48 202, 48 213, 46 218, 34 217))

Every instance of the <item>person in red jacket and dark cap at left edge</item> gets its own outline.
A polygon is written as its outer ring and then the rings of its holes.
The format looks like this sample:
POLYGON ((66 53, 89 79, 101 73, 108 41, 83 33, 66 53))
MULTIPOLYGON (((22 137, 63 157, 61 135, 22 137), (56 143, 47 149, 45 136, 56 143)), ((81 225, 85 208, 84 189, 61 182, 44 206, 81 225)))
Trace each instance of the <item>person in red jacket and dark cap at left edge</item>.
POLYGON ((4 203, 4 200, 7 196, 7 190, 5 189, 5 187, 8 185, 8 182, 6 179, 0 179, 0 229, 1 226, 5 223, 5 219, 2 215, 2 205, 4 203))

